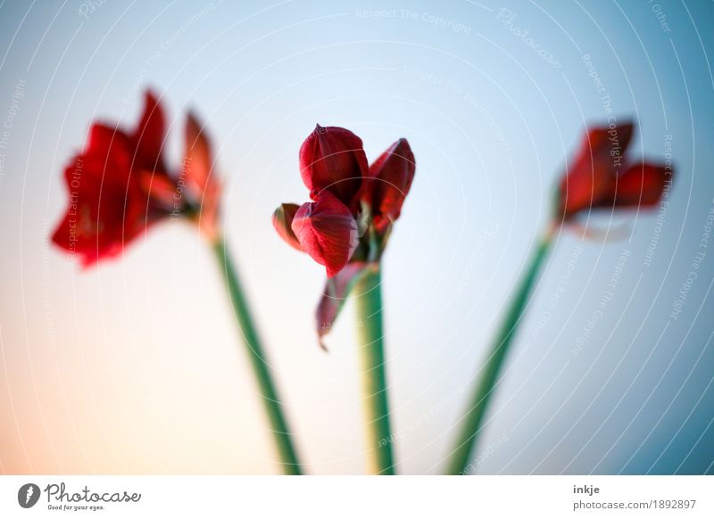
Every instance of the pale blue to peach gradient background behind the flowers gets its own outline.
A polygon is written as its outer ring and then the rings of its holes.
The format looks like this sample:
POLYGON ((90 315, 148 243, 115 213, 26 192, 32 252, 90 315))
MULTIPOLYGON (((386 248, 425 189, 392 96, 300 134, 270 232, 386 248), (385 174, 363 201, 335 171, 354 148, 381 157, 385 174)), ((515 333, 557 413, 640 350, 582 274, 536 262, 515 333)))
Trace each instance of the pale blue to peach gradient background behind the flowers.
POLYGON ((324 273, 279 240, 270 213, 307 200, 297 151, 316 122, 352 129, 370 160, 409 139, 417 177, 384 266, 388 376, 398 471, 438 473, 552 185, 585 124, 605 119, 590 54, 614 112, 641 128, 632 152, 662 160, 672 136, 676 185, 659 223, 656 210, 587 221, 627 225, 625 239, 559 235, 477 472, 714 472, 714 250, 670 317, 714 205, 714 4, 89 5, 0 4, 0 471, 279 470, 193 228, 155 227, 86 272, 47 242, 90 121, 133 124, 152 86, 174 166, 185 111, 209 121, 225 232, 311 473, 364 470, 352 305, 326 355, 312 329, 324 273), (574 354, 623 251, 615 296, 574 354))

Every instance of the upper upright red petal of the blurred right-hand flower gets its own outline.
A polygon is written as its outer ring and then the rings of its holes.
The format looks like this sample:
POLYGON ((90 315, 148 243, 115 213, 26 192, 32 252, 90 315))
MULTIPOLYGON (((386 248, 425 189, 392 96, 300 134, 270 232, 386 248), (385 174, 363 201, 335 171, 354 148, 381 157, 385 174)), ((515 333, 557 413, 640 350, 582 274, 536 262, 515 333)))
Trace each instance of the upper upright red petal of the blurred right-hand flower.
POLYGON ((598 206, 615 185, 635 126, 590 128, 575 159, 560 182, 560 212, 570 218, 581 210, 598 206))

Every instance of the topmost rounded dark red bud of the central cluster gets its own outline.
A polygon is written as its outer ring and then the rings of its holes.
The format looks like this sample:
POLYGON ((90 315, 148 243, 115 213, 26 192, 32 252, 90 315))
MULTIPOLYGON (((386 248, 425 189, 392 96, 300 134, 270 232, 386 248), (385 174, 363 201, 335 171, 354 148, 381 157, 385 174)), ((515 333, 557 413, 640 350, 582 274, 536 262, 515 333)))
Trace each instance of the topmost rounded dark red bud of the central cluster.
POLYGON ((300 174, 312 200, 328 191, 355 213, 362 178, 369 175, 361 138, 345 128, 317 125, 300 148, 300 174))

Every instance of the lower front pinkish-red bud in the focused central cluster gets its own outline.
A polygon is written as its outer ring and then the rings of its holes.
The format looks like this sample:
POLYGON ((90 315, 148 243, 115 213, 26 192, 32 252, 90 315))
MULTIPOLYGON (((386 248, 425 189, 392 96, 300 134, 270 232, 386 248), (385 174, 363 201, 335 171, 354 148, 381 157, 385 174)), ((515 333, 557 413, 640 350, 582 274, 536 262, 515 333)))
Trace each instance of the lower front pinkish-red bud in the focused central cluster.
POLYGON ((328 277, 345 267, 359 243, 352 211, 327 191, 297 210, 292 227, 302 250, 327 268, 328 277))

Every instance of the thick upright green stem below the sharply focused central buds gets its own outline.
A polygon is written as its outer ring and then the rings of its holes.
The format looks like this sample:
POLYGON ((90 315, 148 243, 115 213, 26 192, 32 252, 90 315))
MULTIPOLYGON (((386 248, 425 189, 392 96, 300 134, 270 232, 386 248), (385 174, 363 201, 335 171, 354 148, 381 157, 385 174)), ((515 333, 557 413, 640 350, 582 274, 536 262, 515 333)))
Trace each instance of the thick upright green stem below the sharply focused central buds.
POLYGON ((362 360, 362 391, 367 423, 370 474, 394 474, 389 403, 386 397, 382 292, 379 268, 364 273, 354 286, 357 333, 362 360))

